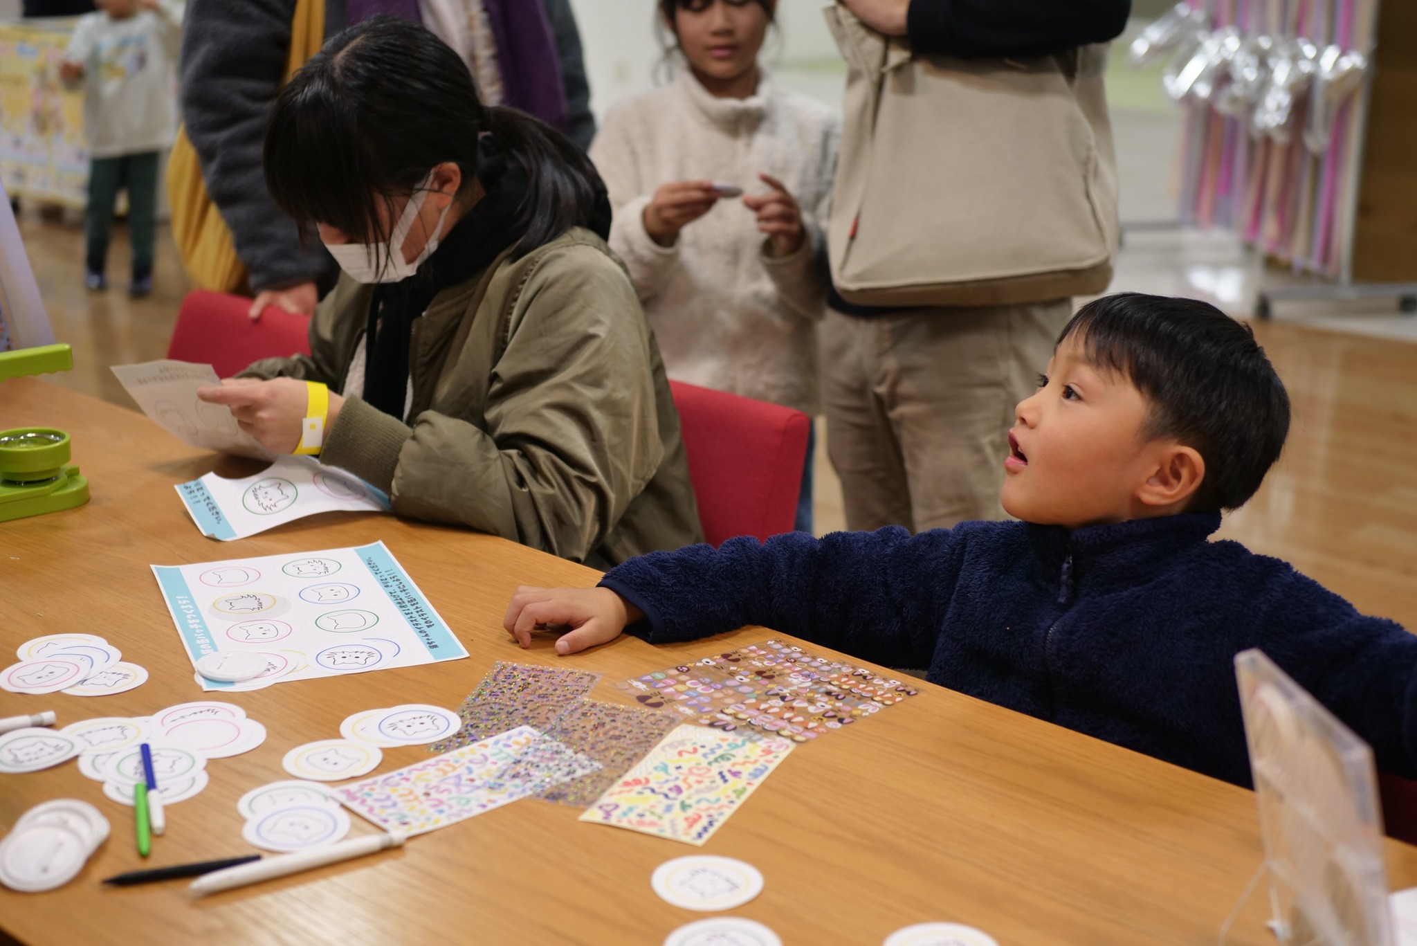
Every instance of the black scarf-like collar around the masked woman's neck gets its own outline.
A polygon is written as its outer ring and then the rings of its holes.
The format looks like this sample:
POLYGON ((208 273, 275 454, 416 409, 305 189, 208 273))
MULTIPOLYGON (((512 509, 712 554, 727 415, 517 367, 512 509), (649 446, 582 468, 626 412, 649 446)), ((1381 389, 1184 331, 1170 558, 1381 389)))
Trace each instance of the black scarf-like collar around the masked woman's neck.
POLYGON ((517 210, 527 197, 527 174, 500 148, 485 148, 478 179, 486 193, 458 221, 418 272, 374 286, 364 333, 364 400, 404 420, 408 393, 408 343, 414 319, 442 289, 466 282, 497 254, 521 238, 517 210))

